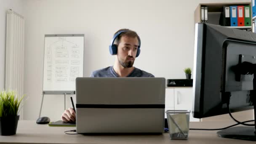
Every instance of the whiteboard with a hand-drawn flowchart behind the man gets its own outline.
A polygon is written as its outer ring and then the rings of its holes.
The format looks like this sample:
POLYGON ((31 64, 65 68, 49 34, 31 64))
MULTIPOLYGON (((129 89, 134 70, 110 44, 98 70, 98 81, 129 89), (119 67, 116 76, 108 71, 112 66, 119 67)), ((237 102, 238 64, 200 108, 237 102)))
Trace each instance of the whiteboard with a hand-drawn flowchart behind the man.
POLYGON ((45 35, 43 91, 75 91, 83 77, 84 35, 45 35))

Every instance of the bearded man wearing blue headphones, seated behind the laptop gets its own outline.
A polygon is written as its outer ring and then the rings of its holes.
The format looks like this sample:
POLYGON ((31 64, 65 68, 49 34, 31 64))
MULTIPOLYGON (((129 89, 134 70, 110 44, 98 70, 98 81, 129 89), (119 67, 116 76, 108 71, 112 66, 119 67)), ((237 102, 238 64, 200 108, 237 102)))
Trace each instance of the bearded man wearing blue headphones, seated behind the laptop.
MULTIPOLYGON (((91 77, 154 77, 154 75, 133 67, 140 54, 141 41, 139 35, 130 29, 118 30, 109 45, 111 55, 116 55, 111 67, 92 72, 91 77)), ((64 122, 75 121, 75 111, 69 108, 61 116, 64 122)))

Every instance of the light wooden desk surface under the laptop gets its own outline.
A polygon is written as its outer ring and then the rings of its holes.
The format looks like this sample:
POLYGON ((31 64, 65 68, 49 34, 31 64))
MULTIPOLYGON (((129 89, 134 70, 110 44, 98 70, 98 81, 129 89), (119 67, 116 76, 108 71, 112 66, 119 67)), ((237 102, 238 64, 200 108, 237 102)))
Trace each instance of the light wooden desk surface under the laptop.
MULTIPOLYGON (((228 122, 190 122, 190 128, 222 128, 234 123, 228 122)), ((217 131, 189 131, 188 140, 171 140, 169 133, 163 135, 129 136, 84 136, 68 135, 64 131, 75 127, 50 127, 37 125, 35 121, 20 120, 14 136, 0 136, 0 143, 11 144, 255 144, 255 141, 243 141, 219 137, 217 131)))

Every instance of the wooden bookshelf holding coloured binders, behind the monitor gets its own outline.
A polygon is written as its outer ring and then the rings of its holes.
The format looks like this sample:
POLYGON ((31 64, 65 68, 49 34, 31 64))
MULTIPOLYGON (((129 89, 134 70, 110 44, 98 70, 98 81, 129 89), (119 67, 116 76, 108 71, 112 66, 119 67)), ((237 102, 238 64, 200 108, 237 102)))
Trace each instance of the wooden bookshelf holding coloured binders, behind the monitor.
POLYGON ((221 12, 223 12, 223 6, 232 6, 232 5, 243 5, 243 6, 249 5, 250 6, 251 26, 241 26, 241 27, 231 27, 231 28, 246 29, 248 31, 251 31, 253 19, 252 19, 252 7, 251 7, 250 2, 245 2, 245 3, 200 3, 194 12, 195 24, 201 22, 201 6, 208 7, 208 23, 220 25, 219 21, 220 21, 220 17, 221 17, 221 12))

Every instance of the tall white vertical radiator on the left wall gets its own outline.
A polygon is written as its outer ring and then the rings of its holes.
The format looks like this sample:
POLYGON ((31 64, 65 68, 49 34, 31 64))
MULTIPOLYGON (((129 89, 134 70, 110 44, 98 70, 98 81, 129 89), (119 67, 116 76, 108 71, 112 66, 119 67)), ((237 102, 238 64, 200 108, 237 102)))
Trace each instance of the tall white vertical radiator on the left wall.
MULTIPOLYGON (((24 18, 9 9, 6 22, 5 90, 24 91, 24 18)), ((21 106, 23 103, 21 104, 21 106)), ((19 111, 23 119, 23 108, 19 111)))

